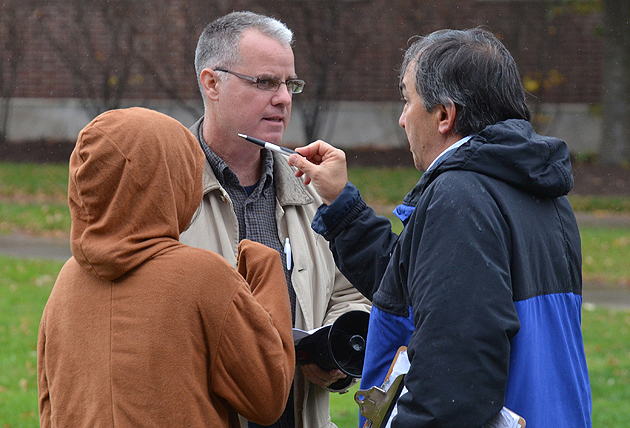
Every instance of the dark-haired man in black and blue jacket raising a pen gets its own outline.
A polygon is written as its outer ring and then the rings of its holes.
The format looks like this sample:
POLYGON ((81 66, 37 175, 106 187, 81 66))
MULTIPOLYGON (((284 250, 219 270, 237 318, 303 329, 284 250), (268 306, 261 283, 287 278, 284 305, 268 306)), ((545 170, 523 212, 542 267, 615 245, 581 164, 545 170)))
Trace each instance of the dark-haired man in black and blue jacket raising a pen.
POLYGON ((313 228, 374 308, 363 388, 407 345, 392 427, 481 427, 502 406, 528 428, 590 427, 580 235, 566 144, 537 135, 514 59, 489 32, 442 30, 405 54, 414 163, 400 236, 318 141, 291 156, 324 205, 313 228))

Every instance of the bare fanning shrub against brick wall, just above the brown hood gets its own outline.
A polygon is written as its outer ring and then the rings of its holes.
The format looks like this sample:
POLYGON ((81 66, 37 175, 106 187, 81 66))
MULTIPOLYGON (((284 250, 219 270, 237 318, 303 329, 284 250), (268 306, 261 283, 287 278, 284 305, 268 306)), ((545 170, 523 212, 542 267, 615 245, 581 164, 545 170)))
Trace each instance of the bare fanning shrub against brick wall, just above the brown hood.
POLYGON ((68 68, 89 114, 119 108, 139 68, 134 41, 147 25, 149 6, 136 0, 65 0, 43 9, 48 12, 41 19, 44 36, 68 68))

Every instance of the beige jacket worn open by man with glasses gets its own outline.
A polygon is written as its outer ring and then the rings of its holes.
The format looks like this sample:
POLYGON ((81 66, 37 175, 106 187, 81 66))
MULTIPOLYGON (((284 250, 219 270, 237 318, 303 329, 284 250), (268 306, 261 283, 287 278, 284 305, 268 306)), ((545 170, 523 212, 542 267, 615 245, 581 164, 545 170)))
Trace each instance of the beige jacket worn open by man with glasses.
MULTIPOLYGON (((191 128, 198 137, 199 124, 191 128)), ((337 270, 328 242, 311 229, 311 220, 321 199, 312 186, 293 175, 286 158, 274 154, 276 220, 280 242, 289 237, 292 246, 291 280, 296 294, 295 327, 311 330, 332 323, 350 310, 370 310, 370 303, 337 270)), ((232 201, 206 162, 204 197, 181 241, 221 254, 235 265, 238 221, 232 201)), ((328 391, 312 384, 296 369, 294 378, 296 426, 330 428, 328 391)), ((358 409, 357 409, 358 411, 358 409)))

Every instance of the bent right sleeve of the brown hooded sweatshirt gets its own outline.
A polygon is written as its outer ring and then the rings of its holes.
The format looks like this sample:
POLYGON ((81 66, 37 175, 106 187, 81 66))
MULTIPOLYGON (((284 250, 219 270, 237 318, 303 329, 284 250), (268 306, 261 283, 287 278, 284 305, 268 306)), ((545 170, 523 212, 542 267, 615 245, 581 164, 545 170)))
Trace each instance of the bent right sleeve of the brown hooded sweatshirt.
POLYGON ((237 412, 263 425, 287 402, 295 350, 280 255, 262 244, 239 244, 238 271, 249 284, 235 293, 221 338, 213 389, 237 412))

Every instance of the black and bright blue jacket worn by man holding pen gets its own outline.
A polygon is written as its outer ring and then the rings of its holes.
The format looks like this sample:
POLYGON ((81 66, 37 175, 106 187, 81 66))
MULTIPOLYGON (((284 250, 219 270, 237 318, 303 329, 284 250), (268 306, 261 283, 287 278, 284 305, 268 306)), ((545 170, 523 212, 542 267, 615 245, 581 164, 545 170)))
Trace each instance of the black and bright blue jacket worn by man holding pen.
POLYGON ((400 236, 351 184, 320 207, 313 228, 374 304, 362 387, 408 345, 392 427, 481 427, 504 405, 528 428, 591 426, 572 186, 566 144, 508 120, 422 176, 400 236))

